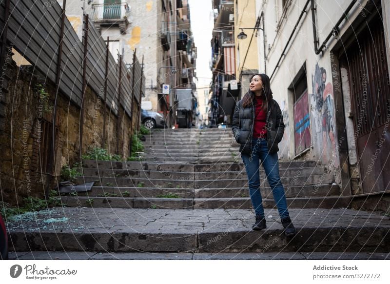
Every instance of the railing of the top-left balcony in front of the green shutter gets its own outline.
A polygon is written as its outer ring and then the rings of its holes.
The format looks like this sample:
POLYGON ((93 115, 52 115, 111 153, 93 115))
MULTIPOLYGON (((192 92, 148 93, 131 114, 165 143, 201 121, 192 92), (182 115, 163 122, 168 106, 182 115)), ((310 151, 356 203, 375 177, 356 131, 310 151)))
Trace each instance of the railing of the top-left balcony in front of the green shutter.
POLYGON ((129 4, 93 4, 93 20, 119 20, 127 19, 130 14, 129 4))

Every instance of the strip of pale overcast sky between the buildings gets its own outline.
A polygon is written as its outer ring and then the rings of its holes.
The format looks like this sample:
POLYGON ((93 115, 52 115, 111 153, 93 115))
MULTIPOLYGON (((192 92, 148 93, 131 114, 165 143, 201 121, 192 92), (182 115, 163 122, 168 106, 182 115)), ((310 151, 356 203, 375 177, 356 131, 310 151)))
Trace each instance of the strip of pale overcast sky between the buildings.
POLYGON ((213 9, 211 0, 189 0, 191 29, 197 48, 196 77, 199 79, 196 86, 209 85, 212 74, 210 70, 211 45, 214 27, 213 9), (208 78, 208 79, 207 79, 208 78))

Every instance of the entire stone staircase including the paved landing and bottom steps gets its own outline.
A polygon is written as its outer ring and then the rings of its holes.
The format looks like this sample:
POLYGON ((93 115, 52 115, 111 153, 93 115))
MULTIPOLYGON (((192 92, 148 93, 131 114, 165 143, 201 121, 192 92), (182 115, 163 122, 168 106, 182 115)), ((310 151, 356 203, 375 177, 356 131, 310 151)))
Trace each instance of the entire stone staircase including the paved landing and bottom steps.
POLYGON ((61 207, 8 222, 10 251, 149 252, 150 259, 177 252, 191 259, 389 257, 389 218, 348 209, 350 198, 340 196, 315 161, 279 162, 297 228, 288 238, 262 169, 267 228, 252 230, 247 176, 231 129, 154 130, 144 145, 140 162, 83 161, 77 182, 94 181, 91 191, 61 196, 61 207))

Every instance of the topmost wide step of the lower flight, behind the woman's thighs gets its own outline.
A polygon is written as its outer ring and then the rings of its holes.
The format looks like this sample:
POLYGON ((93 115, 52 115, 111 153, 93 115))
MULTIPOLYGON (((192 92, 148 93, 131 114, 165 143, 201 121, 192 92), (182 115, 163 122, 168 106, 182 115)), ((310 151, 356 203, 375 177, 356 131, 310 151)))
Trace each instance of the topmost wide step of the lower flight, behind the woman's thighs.
MULTIPOLYGON (((279 169, 286 168, 307 168, 307 167, 323 167, 317 165, 316 161, 279 161, 279 169)), ((174 171, 174 172, 223 172, 227 170, 241 171, 245 170, 245 166, 240 162, 236 163, 204 163, 204 164, 186 164, 182 162, 117 162, 117 161, 96 161, 96 160, 84 160, 84 168, 98 168, 98 169, 133 169, 133 170, 161 170, 161 171, 174 171)))

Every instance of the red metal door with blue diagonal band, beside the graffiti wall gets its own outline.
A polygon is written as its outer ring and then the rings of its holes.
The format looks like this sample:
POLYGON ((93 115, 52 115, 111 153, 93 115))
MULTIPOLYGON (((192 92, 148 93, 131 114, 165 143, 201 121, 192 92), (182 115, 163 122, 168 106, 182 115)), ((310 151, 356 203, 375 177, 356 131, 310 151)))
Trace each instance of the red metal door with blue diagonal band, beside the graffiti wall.
POLYGON ((294 103, 295 155, 310 147, 310 115, 308 91, 294 103))

